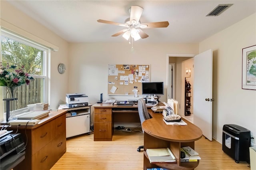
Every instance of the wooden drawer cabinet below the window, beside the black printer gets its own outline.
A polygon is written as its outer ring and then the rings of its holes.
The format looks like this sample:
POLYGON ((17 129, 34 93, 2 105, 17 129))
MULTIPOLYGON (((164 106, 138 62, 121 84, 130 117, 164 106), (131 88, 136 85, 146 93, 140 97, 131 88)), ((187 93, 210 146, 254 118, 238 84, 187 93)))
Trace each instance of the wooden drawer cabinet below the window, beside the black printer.
MULTIPOLYGON (((49 170, 66 152, 67 110, 52 111, 38 125, 18 127, 26 145, 25 159, 14 170, 49 170)), ((8 127, 16 132, 17 127, 8 127)))

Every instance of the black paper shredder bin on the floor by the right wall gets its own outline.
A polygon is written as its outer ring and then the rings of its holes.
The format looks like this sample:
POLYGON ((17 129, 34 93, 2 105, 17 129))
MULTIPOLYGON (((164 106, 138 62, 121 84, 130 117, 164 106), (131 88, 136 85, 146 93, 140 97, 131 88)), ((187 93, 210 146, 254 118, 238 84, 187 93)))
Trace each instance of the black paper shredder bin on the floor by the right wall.
POLYGON ((222 129, 222 150, 239 161, 250 162, 250 130, 238 125, 224 125, 222 129))

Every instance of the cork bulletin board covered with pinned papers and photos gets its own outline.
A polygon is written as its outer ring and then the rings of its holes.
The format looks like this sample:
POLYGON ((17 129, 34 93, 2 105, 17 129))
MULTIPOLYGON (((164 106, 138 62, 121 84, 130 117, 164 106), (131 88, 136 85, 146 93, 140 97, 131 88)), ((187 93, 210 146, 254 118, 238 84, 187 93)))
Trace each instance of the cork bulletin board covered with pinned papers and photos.
POLYGON ((142 95, 149 78, 150 65, 108 64, 108 95, 142 95))

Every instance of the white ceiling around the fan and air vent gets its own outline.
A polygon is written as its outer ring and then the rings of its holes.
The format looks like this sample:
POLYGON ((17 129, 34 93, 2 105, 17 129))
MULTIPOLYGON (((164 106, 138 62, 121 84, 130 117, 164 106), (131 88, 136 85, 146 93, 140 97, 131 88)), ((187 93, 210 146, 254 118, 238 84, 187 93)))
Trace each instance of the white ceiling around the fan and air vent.
MULTIPOLYGON (((122 26, 131 6, 144 8, 141 23, 168 21, 167 28, 149 28, 137 42, 196 43, 256 12, 256 0, 11 0, 8 1, 68 42, 125 42, 111 35, 122 26), (219 16, 206 15, 218 4, 233 4, 219 16)), ((136 43, 137 43, 136 42, 136 43)))

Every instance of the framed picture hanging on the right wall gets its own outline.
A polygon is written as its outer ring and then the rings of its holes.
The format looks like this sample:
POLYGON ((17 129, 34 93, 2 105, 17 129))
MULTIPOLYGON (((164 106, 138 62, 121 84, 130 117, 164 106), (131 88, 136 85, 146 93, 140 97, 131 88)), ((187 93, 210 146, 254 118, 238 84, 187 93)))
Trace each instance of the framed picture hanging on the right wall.
POLYGON ((242 49, 242 89, 256 90, 256 45, 242 49))

